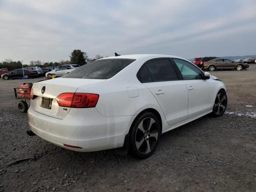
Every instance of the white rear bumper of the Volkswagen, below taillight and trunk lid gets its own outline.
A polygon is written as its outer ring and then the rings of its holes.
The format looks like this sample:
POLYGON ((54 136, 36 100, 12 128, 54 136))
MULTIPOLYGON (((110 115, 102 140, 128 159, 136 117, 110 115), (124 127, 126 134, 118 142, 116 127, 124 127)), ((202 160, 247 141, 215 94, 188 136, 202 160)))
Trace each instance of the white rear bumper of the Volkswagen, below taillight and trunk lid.
POLYGON ((134 118, 105 117, 95 108, 71 109, 64 119, 40 114, 31 107, 28 110, 28 123, 32 132, 57 146, 80 152, 122 147, 134 118))

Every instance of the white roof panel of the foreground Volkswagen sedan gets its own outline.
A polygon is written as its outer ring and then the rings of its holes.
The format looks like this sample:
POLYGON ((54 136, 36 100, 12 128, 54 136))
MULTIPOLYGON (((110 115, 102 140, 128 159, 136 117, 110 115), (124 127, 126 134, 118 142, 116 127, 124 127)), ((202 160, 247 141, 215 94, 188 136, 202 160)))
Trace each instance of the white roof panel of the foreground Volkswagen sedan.
POLYGON ((117 59, 117 58, 123 58, 123 59, 154 59, 154 58, 179 58, 179 59, 184 59, 182 57, 178 56, 173 56, 173 55, 162 55, 162 54, 133 54, 133 55, 121 55, 121 56, 112 56, 112 57, 106 57, 102 58, 103 59, 117 59))

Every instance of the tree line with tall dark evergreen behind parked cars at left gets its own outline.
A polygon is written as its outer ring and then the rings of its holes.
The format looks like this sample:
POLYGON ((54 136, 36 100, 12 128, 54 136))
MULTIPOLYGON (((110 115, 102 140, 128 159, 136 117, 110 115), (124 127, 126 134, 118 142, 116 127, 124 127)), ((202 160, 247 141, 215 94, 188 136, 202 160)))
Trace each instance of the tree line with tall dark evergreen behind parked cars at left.
MULTIPOLYGON (((88 58, 87 53, 82 52, 79 49, 73 50, 69 57, 70 60, 60 60, 59 62, 43 62, 40 60, 30 61, 29 64, 23 64, 23 67, 38 66, 44 68, 50 66, 62 66, 66 64, 78 64, 82 66, 97 59, 104 58, 100 54, 97 54, 94 58, 88 58)), ((12 59, 5 59, 4 61, 0 62, 0 69, 1 68, 8 68, 10 71, 14 69, 19 69, 22 68, 22 61, 13 61, 12 59)))

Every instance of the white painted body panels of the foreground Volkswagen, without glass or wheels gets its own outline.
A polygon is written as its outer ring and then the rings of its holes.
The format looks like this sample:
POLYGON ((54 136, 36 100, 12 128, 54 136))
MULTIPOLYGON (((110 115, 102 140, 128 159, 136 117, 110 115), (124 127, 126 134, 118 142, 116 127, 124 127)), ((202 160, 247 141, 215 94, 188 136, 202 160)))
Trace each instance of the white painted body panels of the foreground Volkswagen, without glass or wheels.
POLYGON ((90 152, 122 147, 136 116, 149 108, 159 113, 162 133, 212 112, 218 91, 226 90, 223 82, 214 80, 213 76, 208 80, 152 83, 138 80, 136 74, 146 61, 166 57, 180 58, 156 54, 108 57, 103 60, 136 60, 107 80, 56 78, 34 83, 33 91, 37 97, 31 100, 28 110, 30 129, 63 148, 90 152), (43 86, 46 87, 44 94, 41 93, 43 86), (56 97, 64 92, 99 94, 98 103, 95 108, 60 107, 56 97), (53 99, 50 110, 40 107, 42 97, 53 99), (64 144, 82 148, 70 148, 64 144))

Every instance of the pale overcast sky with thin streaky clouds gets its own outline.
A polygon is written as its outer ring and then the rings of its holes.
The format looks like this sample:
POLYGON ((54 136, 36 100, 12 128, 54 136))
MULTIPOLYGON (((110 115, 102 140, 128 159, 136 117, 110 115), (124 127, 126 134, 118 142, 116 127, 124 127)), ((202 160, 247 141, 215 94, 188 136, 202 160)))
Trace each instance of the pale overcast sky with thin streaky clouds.
POLYGON ((256 0, 0 0, 0 61, 256 54, 256 0))

